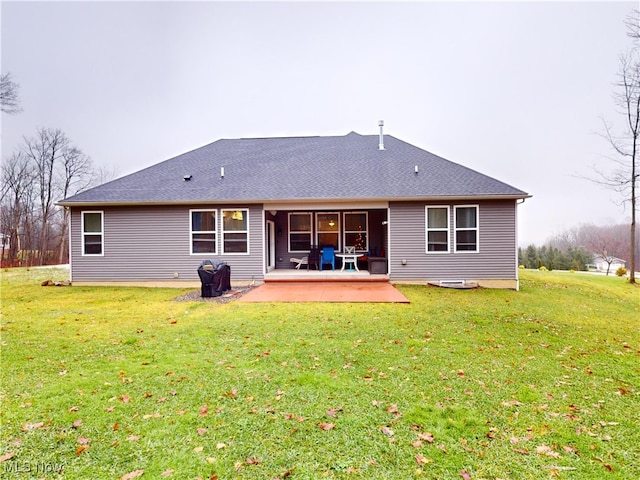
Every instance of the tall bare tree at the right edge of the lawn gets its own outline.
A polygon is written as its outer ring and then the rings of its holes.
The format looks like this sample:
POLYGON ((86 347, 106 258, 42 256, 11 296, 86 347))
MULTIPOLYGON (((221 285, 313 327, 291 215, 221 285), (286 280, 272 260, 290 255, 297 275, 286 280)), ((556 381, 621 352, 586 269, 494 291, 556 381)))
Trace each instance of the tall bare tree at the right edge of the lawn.
POLYGON ((638 157, 640 156, 640 13, 634 10, 626 20, 627 32, 632 39, 629 51, 620 55, 620 70, 614 92, 616 105, 625 118, 625 128, 620 135, 605 123, 605 138, 617 153, 617 167, 612 172, 596 171, 598 183, 623 194, 631 204, 631 257, 629 281, 636 283, 636 213, 638 210, 637 187, 638 157))

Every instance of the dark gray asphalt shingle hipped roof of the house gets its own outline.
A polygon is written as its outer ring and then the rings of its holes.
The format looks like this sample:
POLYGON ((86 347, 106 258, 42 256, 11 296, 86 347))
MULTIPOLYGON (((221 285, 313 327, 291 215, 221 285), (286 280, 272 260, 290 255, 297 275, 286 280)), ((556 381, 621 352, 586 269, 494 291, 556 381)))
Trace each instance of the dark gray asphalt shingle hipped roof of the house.
POLYGON ((384 150, 378 149, 378 140, 378 135, 355 132, 335 137, 218 140, 60 203, 529 196, 391 135, 384 136, 384 150), (184 180, 187 175, 190 181, 184 180))

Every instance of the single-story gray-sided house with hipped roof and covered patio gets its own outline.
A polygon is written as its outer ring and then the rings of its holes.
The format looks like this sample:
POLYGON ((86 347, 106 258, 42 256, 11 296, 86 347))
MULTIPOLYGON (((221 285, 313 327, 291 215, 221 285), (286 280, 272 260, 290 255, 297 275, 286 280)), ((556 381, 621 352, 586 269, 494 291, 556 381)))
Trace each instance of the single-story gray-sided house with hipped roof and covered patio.
POLYGON ((381 126, 222 139, 59 205, 71 213, 74 284, 195 281, 210 258, 232 281, 260 282, 321 245, 384 257, 393 282, 517 289, 517 205, 528 197, 381 126))

